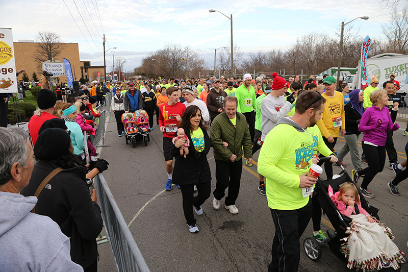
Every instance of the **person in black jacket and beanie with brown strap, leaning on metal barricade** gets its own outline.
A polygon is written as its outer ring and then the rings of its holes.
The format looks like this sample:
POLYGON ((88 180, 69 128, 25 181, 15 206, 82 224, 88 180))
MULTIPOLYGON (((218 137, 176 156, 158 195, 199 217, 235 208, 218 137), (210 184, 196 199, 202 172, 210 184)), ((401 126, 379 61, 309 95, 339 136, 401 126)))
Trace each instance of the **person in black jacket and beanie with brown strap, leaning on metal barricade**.
POLYGON ((34 147, 38 162, 30 183, 21 194, 34 195, 40 189, 35 212, 49 216, 70 237, 71 259, 86 271, 97 270, 96 237, 103 227, 96 192, 86 183, 86 169, 74 155, 68 133, 49 128, 40 133, 34 147), (44 186, 41 184, 50 178, 44 186), (40 188, 40 185, 44 187, 40 188))

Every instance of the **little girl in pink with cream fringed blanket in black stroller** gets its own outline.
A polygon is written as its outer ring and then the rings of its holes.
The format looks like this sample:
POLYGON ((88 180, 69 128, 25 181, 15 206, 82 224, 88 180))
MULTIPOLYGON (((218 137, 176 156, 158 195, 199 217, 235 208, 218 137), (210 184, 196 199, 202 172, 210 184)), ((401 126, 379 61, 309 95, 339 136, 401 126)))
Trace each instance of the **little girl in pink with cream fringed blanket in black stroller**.
POLYGON ((392 241, 391 230, 384 224, 377 222, 361 206, 359 191, 353 183, 345 182, 338 192, 333 194, 329 185, 328 194, 341 214, 352 219, 344 238, 342 250, 348 257, 348 268, 362 268, 364 270, 399 268, 405 254, 392 241))

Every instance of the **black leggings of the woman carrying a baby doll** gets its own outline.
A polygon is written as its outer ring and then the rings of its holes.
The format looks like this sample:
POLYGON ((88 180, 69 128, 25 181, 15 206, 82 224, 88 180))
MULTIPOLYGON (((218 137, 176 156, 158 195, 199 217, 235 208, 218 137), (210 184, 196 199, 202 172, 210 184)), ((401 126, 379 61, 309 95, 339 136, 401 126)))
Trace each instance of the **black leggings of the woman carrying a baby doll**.
POLYGON ((196 219, 192 206, 201 206, 211 195, 211 182, 199 183, 197 185, 198 194, 194 196, 194 184, 180 185, 183 196, 183 211, 188 225, 194 225, 196 219))

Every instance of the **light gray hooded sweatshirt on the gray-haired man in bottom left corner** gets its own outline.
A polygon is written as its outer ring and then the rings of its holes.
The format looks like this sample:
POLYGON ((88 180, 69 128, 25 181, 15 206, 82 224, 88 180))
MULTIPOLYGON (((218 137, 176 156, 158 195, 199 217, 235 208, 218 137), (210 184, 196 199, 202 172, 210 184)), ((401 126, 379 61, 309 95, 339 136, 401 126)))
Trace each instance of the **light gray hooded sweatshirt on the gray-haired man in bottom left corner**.
POLYGON ((0 192, 0 272, 84 271, 70 243, 47 216, 31 213, 37 197, 0 192))

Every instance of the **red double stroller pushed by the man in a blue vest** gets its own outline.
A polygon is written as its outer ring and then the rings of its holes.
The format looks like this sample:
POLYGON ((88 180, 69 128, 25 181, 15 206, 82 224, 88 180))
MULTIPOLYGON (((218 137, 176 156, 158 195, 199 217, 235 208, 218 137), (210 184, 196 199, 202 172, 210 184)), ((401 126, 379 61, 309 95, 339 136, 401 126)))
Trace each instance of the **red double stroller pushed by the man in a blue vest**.
POLYGON ((124 133, 126 144, 131 142, 133 147, 136 146, 137 141, 143 141, 144 145, 150 141, 150 128, 149 119, 145 110, 137 110, 132 114, 133 120, 126 121, 126 115, 129 113, 122 114, 122 122, 124 125, 124 133), (143 121, 140 121, 143 119, 143 121))

